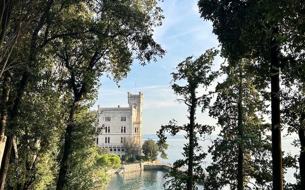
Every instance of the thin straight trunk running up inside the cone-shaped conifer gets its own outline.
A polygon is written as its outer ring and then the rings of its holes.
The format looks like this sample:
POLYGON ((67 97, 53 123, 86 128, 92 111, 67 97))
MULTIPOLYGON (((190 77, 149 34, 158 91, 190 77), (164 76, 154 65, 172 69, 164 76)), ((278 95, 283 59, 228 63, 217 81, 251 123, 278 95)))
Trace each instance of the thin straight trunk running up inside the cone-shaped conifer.
POLYGON ((238 115, 237 115, 237 133, 238 133, 238 157, 237 157, 237 190, 243 189, 243 123, 242 123, 242 64, 239 63, 239 92, 238 92, 238 115))

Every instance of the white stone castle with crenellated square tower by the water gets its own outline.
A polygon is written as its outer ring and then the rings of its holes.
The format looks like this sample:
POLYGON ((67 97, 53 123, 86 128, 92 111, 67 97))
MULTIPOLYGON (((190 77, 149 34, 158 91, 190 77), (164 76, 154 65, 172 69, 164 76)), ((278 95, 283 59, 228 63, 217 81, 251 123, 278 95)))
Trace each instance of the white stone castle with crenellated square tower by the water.
POLYGON ((123 143, 132 139, 142 146, 142 106, 143 93, 128 92, 129 107, 102 108, 98 106, 97 125, 104 128, 102 134, 95 138, 97 145, 108 148, 110 153, 125 154, 123 143))

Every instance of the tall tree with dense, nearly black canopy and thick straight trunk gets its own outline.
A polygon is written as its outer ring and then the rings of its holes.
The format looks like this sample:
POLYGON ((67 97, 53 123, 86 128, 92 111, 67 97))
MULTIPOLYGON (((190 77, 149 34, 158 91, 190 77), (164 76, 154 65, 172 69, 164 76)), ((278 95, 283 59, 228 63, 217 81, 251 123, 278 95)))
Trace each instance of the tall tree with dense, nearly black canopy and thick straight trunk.
MULTIPOLYGON (((302 61, 302 5, 301 1, 198 2, 201 17, 213 22, 213 32, 218 35, 223 55, 233 60, 252 58, 259 64, 256 69, 262 71, 259 72, 261 82, 264 83, 265 78, 269 78, 273 189, 283 189, 280 69, 293 68, 289 66, 289 62, 302 61), (291 59, 293 61, 288 61, 291 59)), ((296 66, 294 69, 301 67, 296 66)))

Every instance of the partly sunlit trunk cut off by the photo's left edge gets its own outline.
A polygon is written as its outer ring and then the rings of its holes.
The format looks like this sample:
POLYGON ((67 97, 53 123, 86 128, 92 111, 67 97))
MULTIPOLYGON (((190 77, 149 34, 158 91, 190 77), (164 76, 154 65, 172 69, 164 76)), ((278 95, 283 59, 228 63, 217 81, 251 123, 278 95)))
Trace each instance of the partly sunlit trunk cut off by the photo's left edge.
MULTIPOLYGON (((5 130, 5 125, 6 125, 6 120, 7 120, 7 102, 9 100, 9 93, 10 93, 10 88, 9 88, 9 83, 11 81, 10 76, 5 77, 5 82, 3 85, 2 89, 2 97, 1 97, 1 105, 0 105, 0 163, 2 161, 2 156, 5 148, 5 143, 6 143, 6 136, 4 135, 4 130, 5 130)), ((1 166, 0 166, 1 167, 1 166)))

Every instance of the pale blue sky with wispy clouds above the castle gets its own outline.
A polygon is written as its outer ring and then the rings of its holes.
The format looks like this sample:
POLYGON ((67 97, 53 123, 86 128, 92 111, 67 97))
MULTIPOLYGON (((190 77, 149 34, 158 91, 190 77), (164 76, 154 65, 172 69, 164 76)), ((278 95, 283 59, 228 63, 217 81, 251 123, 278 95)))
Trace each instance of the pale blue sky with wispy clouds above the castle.
MULTIPOLYGON (((178 124, 188 122, 187 106, 175 101, 177 97, 170 87, 170 73, 186 57, 199 56, 206 49, 219 46, 217 36, 212 34, 211 22, 200 18, 197 0, 166 0, 160 2, 159 6, 163 9, 165 19, 162 26, 155 28, 154 39, 167 51, 166 55, 146 66, 134 61, 128 77, 119 82, 119 88, 107 77, 102 77, 98 100, 92 108, 96 110, 97 105, 128 107, 127 92, 142 91, 144 135, 156 134, 162 124, 167 124, 173 118, 178 124)), ((218 70, 222 61, 216 57, 213 69, 218 70)), ((204 90, 201 89, 201 92, 204 93, 204 90)), ((207 113, 197 111, 196 117, 198 123, 216 124, 216 120, 207 113)))

